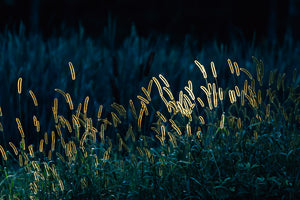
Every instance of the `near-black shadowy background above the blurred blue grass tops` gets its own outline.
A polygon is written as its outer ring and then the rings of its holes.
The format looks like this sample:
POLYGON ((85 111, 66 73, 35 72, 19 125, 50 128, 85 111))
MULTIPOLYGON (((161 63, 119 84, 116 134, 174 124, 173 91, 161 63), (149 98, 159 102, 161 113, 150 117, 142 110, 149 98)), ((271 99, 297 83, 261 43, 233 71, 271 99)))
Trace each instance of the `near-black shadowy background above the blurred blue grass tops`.
POLYGON ((190 34, 200 41, 226 42, 251 40, 255 33, 257 39, 280 41, 287 31, 299 38, 299 9, 299 0, 1 0, 0 30, 17 30, 22 21, 28 33, 48 37, 81 24, 97 37, 110 15, 119 38, 134 23, 142 36, 168 33, 182 39, 190 34))

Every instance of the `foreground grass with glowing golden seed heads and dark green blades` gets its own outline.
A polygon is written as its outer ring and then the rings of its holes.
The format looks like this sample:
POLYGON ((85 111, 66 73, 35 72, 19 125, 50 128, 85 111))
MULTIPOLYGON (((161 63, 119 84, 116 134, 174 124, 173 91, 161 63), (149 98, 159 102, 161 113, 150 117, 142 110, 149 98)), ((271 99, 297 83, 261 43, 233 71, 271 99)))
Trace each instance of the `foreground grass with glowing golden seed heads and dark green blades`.
MULTIPOLYGON (((20 145, 10 143, 13 153, 0 146, 1 197, 297 199, 296 78, 289 82, 271 72, 266 84, 262 61, 253 60, 256 76, 228 59, 235 82, 229 86, 219 85, 222 76, 213 62, 210 77, 196 60, 205 85, 187 80, 176 91, 160 74, 129 109, 113 103, 99 106, 97 115, 90 114, 89 96, 76 105, 74 94, 55 89, 64 98, 54 98, 52 129, 41 134, 34 115, 35 146, 22 131, 20 145)), ((80 81, 69 66, 69 81, 80 81)))

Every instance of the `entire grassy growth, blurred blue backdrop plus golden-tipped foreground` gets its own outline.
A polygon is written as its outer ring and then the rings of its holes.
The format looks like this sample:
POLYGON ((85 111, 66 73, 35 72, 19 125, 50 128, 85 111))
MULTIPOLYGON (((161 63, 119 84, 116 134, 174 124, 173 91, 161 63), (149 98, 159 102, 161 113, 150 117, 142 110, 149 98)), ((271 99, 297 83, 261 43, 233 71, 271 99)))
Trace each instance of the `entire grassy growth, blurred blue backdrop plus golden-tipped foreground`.
POLYGON ((300 198, 297 42, 115 46, 113 27, 0 35, 0 198, 300 198))

